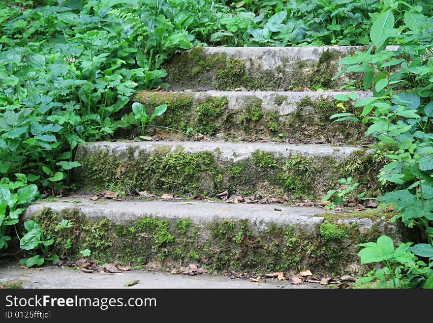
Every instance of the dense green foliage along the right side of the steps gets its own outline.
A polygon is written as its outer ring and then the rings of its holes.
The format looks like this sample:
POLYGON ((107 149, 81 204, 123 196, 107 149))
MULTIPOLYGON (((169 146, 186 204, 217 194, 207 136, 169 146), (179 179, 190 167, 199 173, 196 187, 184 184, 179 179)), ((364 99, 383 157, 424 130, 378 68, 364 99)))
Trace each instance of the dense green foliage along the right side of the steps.
MULTIPOLYGON (((386 286, 398 287, 398 278, 404 269, 406 278, 415 283, 433 275, 433 18, 425 16, 419 6, 394 1, 374 21, 371 41, 366 52, 343 58, 340 65, 345 65, 342 73, 364 72, 365 89, 372 86, 373 97, 355 102, 355 107, 364 107, 359 116, 344 113, 333 118, 358 121, 361 117, 363 123, 369 124, 366 135, 375 139, 376 151, 389 161, 380 170, 378 179, 397 185, 396 190, 378 200, 394 206, 398 212, 394 220, 401 219, 407 227, 418 229, 421 243, 405 246, 404 252, 402 246, 397 248, 395 264, 387 263, 391 256, 364 261, 385 262, 385 272, 380 271, 378 276, 376 271, 376 278, 383 281, 392 278, 391 284, 386 286), (395 28, 396 16, 402 17, 404 22, 399 29, 395 28), (390 41, 400 46, 395 50, 387 49, 390 41), (410 253, 421 258, 416 268, 410 253), (397 263, 410 265, 402 267, 396 266, 397 263), (420 278, 418 274, 424 276, 420 278)), ((345 95, 336 98, 349 99, 345 95)), ((360 252, 361 260, 368 253, 364 250, 373 250, 371 248, 377 245, 361 245, 366 247, 360 252)), ((378 248, 376 254, 383 252, 382 249, 378 248)), ((394 247, 389 253, 393 250, 394 247)), ((431 281, 427 280, 425 286, 431 286, 431 281)))

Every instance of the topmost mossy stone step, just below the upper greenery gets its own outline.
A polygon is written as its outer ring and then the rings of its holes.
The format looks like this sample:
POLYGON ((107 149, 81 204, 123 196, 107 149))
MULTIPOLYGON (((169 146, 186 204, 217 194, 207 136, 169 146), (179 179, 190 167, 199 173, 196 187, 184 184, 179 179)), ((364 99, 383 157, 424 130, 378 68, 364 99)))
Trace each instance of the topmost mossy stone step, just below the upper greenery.
POLYGON ((366 46, 195 47, 165 64, 174 90, 362 88, 360 73, 337 80, 339 60, 366 46))

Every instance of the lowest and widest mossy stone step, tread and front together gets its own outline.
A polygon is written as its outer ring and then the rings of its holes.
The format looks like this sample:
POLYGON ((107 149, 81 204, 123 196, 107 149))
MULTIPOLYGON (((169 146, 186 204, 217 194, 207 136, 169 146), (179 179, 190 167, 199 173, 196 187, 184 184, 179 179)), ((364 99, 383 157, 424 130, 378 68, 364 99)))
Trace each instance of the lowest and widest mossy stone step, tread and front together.
MULTIPOLYGON (((204 201, 96 201, 78 196, 29 206, 25 219, 56 236, 54 252, 70 258, 90 249, 93 259, 162 266, 191 262, 216 270, 365 270, 356 244, 395 227, 377 215, 351 216, 315 207, 206 203, 204 201), (79 202, 79 203, 77 203, 79 202), (330 220, 326 220, 329 216, 330 220), (59 221, 72 223, 60 229, 59 221), (365 225, 366 221, 369 225, 365 225), (71 248, 64 242, 70 239, 71 248)), ((393 229, 394 228, 394 229, 393 229)), ((398 235, 397 235, 398 239, 398 235)))

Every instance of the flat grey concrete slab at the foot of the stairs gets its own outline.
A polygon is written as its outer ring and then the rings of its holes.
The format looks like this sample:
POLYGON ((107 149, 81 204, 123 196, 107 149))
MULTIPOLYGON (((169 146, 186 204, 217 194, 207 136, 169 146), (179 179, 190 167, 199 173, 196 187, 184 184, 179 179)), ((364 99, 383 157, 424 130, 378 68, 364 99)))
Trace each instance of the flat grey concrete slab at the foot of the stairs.
POLYGON ((24 269, 15 263, 0 264, 0 286, 17 288, 83 288, 83 289, 306 289, 326 288, 320 284, 303 282, 292 284, 277 278, 260 279, 258 283, 249 279, 233 279, 223 275, 173 275, 170 272, 155 271, 154 268, 131 269, 116 274, 100 275, 84 273, 81 269, 55 268, 45 266, 43 270, 24 269), (148 270, 151 269, 151 270, 148 270), (133 286, 124 287, 127 282, 138 280, 133 286))

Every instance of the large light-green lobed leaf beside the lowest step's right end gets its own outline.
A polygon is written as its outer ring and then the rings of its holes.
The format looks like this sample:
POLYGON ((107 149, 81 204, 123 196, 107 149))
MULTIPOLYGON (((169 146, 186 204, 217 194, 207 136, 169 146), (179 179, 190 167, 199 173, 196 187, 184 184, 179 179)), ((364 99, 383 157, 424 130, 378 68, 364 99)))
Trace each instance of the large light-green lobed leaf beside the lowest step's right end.
POLYGON ((361 258, 361 264, 379 263, 392 258, 394 253, 394 243, 387 235, 380 236, 377 243, 362 243, 358 247, 364 247, 357 254, 361 258))

